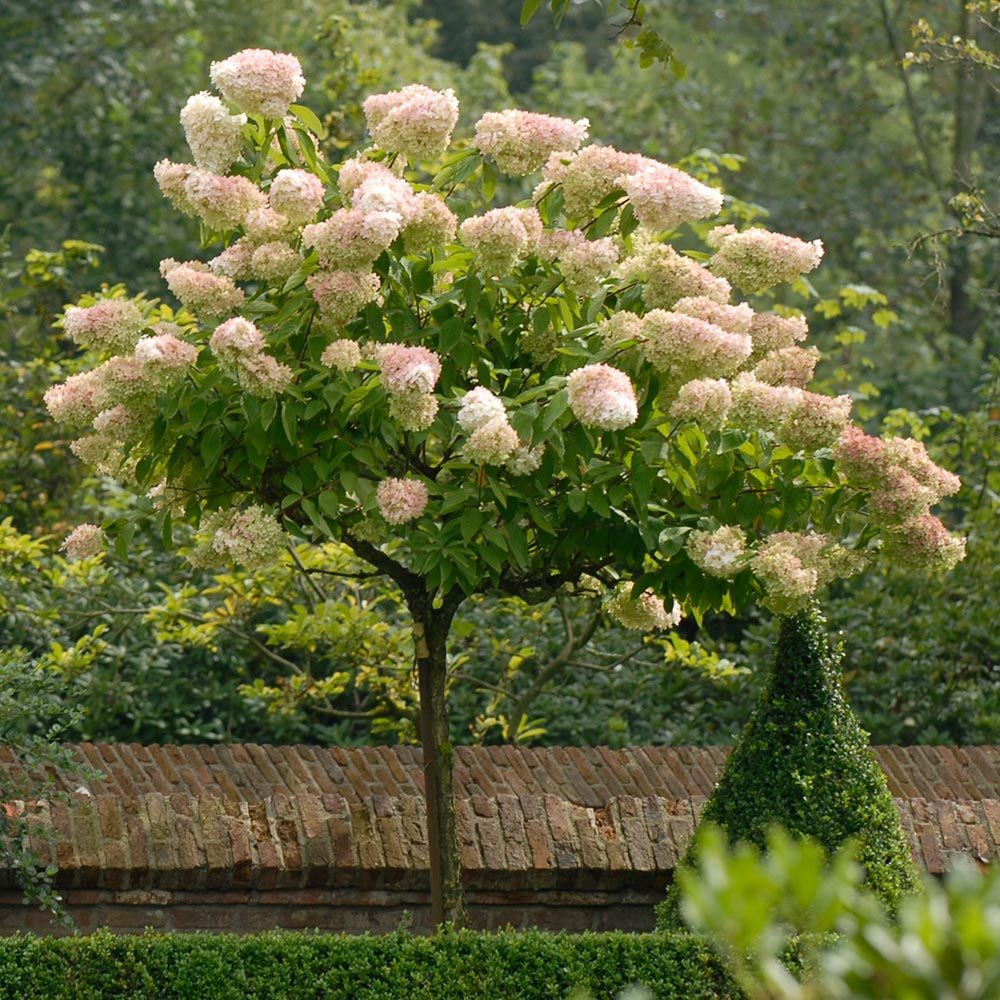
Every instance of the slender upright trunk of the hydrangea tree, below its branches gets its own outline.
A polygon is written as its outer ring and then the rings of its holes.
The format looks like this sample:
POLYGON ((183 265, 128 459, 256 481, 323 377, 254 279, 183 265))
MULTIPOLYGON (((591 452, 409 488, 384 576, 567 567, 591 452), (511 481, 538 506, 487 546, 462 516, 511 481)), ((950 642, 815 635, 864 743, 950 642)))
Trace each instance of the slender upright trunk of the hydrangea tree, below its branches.
POLYGON ((429 598, 411 599, 413 647, 420 688, 420 743, 430 856, 431 919, 435 926, 466 923, 462 859, 455 813, 455 751, 448 732, 446 645, 455 608, 434 609, 429 598))

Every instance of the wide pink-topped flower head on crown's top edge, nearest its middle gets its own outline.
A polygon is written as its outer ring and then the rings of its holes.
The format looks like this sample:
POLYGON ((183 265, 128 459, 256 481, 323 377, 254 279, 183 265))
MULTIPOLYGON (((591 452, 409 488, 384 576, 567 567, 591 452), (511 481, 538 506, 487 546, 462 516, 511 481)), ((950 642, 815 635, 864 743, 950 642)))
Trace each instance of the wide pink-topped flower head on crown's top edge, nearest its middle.
POLYGON ((589 127, 586 118, 574 122, 531 111, 488 111, 476 122, 472 144, 505 174, 523 177, 541 169, 550 154, 578 149, 589 127))

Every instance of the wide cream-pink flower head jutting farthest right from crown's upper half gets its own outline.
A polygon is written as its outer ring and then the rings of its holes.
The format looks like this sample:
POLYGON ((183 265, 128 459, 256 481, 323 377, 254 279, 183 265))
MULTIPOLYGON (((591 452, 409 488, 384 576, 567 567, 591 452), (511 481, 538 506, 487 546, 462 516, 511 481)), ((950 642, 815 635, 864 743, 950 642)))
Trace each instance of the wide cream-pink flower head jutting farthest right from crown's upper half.
POLYGON ((712 271, 747 294, 794 281, 823 259, 820 240, 806 243, 766 229, 737 233, 723 226, 709 234, 708 242, 718 247, 709 264, 712 271))

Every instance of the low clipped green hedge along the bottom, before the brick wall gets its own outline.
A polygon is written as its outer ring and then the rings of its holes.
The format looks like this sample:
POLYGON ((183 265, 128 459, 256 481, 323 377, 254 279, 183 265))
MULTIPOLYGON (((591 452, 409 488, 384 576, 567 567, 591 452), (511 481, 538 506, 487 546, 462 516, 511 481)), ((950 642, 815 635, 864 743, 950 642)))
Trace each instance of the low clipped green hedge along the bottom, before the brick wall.
POLYGON ((0 939, 0 997, 18 1000, 533 1000, 742 997, 708 942, 690 934, 416 937, 100 933, 0 939))

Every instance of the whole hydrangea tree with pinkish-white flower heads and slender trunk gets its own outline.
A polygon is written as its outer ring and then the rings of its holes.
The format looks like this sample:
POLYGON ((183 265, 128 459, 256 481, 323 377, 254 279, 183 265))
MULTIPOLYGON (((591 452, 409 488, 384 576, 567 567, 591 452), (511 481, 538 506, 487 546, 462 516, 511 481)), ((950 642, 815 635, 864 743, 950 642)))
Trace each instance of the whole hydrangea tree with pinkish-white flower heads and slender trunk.
POLYGON ((194 562, 339 539, 399 587, 436 920, 463 919, 445 680, 466 597, 600 587, 662 629, 753 595, 794 614, 879 545, 961 558, 929 513, 957 480, 805 388, 801 317, 733 300, 812 270, 819 242, 711 228, 720 191, 585 145, 585 121, 490 113, 449 155, 455 95, 415 84, 365 102, 374 145, 334 166, 293 56, 211 77, 181 114, 194 163, 155 170, 207 259, 163 261, 176 314, 120 291, 67 309, 98 363, 47 402, 136 517, 197 528, 194 562), (539 169, 491 207, 498 170, 539 169), (671 242, 700 236, 711 256, 671 242))

